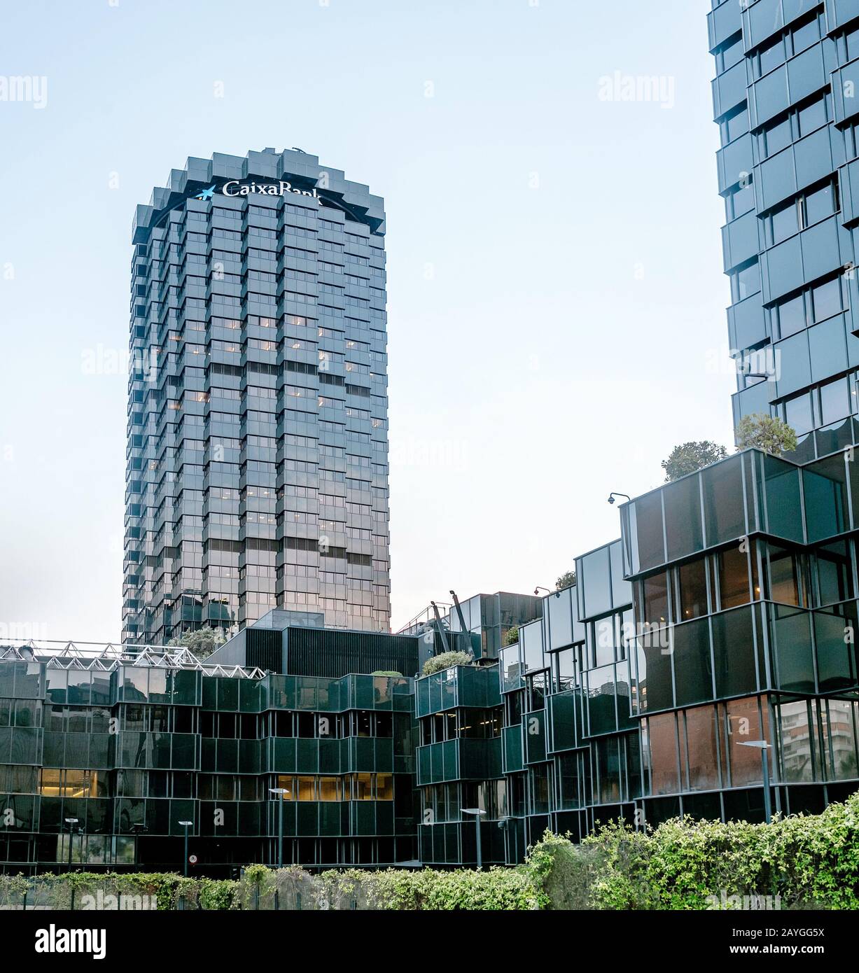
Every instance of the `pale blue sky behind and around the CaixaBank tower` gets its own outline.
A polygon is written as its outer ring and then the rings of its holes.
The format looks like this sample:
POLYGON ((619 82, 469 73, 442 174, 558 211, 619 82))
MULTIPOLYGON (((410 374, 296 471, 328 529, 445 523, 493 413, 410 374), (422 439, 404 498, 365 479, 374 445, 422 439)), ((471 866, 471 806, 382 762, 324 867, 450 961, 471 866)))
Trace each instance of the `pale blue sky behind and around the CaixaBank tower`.
POLYGON ((657 486, 675 443, 730 446, 708 9, 10 5, 0 74, 48 89, 0 100, 0 634, 119 635, 105 373, 134 205, 188 156, 299 146, 386 200, 395 628, 450 588, 551 586, 619 534, 610 490, 657 486), (616 71, 669 106, 600 97, 616 71))

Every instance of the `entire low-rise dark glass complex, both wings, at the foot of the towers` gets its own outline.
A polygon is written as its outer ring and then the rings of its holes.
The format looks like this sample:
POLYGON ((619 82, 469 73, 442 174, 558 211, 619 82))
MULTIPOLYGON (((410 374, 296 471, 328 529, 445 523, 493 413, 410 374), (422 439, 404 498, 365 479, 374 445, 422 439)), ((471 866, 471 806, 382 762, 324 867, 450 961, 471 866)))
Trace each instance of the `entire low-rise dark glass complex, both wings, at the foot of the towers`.
POLYGON ((548 827, 859 788, 859 473, 744 450, 621 508, 575 585, 389 635, 275 609, 184 650, 0 659, 0 868, 519 862, 548 827), (501 612, 499 616, 499 611, 501 612), (309 623, 309 624, 308 624, 309 623), (494 645, 499 625, 518 640, 494 645), (413 677, 448 648, 474 662, 413 677), (398 671, 402 675, 375 674, 398 671), (474 811, 480 823, 476 822, 474 811), (73 821, 71 844, 68 821, 73 821), (65 832, 65 834, 64 834, 65 832))

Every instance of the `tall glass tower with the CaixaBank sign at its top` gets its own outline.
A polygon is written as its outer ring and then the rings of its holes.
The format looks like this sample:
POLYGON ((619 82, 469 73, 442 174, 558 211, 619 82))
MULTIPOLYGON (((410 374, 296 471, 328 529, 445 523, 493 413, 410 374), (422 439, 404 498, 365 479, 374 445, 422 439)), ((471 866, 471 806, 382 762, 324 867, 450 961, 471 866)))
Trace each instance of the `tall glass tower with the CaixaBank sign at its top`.
POLYGON ((125 640, 389 630, 384 230, 298 150, 189 159, 137 207, 125 640))

